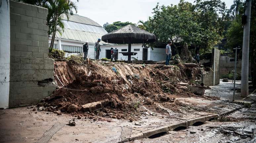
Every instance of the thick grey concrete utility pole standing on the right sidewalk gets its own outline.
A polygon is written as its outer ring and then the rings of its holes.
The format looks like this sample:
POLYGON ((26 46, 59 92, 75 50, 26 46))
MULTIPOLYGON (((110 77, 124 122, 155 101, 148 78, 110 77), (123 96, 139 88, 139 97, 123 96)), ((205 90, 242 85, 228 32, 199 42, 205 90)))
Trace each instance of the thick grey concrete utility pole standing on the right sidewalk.
POLYGON ((242 50, 242 72, 241 72, 241 97, 247 97, 248 72, 249 72, 249 41, 251 22, 251 0, 246 0, 245 5, 246 22, 243 27, 243 50, 242 50))

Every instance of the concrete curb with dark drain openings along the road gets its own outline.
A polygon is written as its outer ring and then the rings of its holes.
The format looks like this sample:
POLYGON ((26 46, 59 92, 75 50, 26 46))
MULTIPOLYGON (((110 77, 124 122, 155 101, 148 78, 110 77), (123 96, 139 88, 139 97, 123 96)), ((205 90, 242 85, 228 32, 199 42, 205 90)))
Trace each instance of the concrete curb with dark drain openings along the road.
MULTIPOLYGON (((255 101, 250 102, 250 104, 255 103, 255 101)), ((237 104, 237 103, 236 103, 237 104)), ((161 132, 168 132, 168 131, 173 131, 174 129, 178 128, 178 127, 189 127, 192 126, 194 123, 196 122, 205 122, 205 121, 209 121, 212 118, 216 118, 219 116, 224 116, 230 113, 233 113, 239 109, 241 109, 243 106, 232 109, 231 111, 227 111, 221 114, 211 114, 211 115, 206 115, 206 116, 202 116, 202 117, 197 117, 197 118, 193 118, 187 121, 183 121, 181 123, 178 124, 171 124, 171 125, 167 125, 167 126, 163 126, 161 128, 156 128, 156 129, 150 129, 147 131, 143 131, 143 132, 138 132, 138 133, 134 133, 131 134, 130 137, 125 138, 124 140, 118 142, 118 143, 124 143, 124 142, 128 142, 128 141, 133 141, 133 140, 137 140, 137 139, 142 139, 142 138, 147 138, 151 135, 157 134, 157 133, 161 133, 161 132)))

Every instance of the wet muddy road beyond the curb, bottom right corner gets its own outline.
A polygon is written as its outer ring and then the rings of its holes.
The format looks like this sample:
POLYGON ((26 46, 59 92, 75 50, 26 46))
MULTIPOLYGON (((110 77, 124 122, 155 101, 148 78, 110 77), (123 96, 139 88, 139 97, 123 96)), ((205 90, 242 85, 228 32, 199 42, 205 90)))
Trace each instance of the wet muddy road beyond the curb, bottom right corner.
POLYGON ((256 142, 256 104, 242 108, 203 125, 190 126, 180 131, 169 131, 155 138, 135 140, 144 142, 256 142))

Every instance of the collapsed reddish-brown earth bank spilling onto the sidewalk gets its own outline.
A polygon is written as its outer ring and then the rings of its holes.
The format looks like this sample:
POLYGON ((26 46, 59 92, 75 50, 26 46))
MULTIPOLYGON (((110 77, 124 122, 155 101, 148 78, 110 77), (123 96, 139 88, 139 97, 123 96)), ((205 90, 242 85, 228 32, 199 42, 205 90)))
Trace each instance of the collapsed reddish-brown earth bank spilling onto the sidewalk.
POLYGON ((198 66, 186 67, 181 63, 166 66, 105 61, 76 63, 70 60, 56 61, 54 66, 59 87, 40 103, 41 106, 48 111, 96 113, 118 119, 129 119, 131 114, 139 116, 142 105, 152 110, 157 110, 158 105, 171 106, 178 111, 183 105, 175 98, 195 96, 186 85, 194 84, 193 81, 201 76, 198 66), (104 105, 93 103, 98 101, 104 101, 104 105), (93 109, 83 108, 89 103, 95 104, 93 109))

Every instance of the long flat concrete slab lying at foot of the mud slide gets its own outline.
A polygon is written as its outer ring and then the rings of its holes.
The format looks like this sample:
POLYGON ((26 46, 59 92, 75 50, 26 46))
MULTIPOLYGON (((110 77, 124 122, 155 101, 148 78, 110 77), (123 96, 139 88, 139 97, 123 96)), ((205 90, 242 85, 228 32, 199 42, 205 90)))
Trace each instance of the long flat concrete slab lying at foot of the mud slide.
POLYGON ((108 99, 100 100, 97 102, 88 103, 82 106, 83 111, 94 111, 98 110, 109 104, 108 99))

